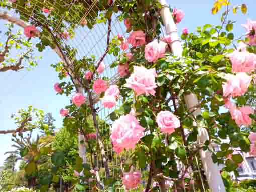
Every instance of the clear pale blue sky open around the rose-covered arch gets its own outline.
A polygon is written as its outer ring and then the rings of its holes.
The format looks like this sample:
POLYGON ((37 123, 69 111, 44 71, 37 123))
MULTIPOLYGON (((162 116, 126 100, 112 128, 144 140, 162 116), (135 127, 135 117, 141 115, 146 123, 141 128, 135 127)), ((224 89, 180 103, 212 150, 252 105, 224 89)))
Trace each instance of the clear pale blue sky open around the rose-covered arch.
MULTIPOLYGON (((190 32, 195 31, 197 26, 204 24, 220 24, 219 15, 211 15, 213 0, 172 0, 172 6, 181 8, 185 12, 185 17, 177 28, 187 27, 190 32)), ((244 33, 240 24, 244 24, 248 18, 256 20, 255 0, 232 0, 232 5, 246 3, 248 12, 243 15, 238 11, 236 15, 230 14, 230 19, 237 21, 234 25, 236 37, 244 33)), ((0 11, 1 8, 0 8, 0 11)), ((223 10, 221 10, 223 11, 223 10)), ((0 29, 3 29, 5 22, 0 20, 0 29)), ((0 42, 3 42, 3 35, 0 34, 0 42)), ((88 41, 88 40, 87 40, 88 41)), ((84 45, 86 47, 86 44, 84 45)), ((42 54, 43 59, 39 60, 38 67, 33 71, 5 72, 0 74, 0 130, 16 128, 10 115, 20 108, 27 108, 28 105, 43 109, 45 113, 51 112, 56 119, 57 128, 61 127, 62 118, 59 110, 69 104, 69 98, 56 95, 53 84, 58 82, 57 73, 50 64, 59 61, 58 56, 51 50, 46 49, 42 54)), ((11 135, 0 135, 0 166, 6 156, 4 153, 10 151, 12 142, 11 135)))

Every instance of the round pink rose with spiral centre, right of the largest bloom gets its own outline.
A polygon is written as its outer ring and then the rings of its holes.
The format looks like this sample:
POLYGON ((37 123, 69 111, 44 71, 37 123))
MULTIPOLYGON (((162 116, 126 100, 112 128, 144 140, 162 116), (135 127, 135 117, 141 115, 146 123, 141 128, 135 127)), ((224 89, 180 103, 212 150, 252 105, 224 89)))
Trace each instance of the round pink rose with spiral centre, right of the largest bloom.
POLYGON ((176 128, 180 127, 180 121, 170 111, 160 111, 157 114, 156 121, 160 131, 164 133, 173 133, 176 128))

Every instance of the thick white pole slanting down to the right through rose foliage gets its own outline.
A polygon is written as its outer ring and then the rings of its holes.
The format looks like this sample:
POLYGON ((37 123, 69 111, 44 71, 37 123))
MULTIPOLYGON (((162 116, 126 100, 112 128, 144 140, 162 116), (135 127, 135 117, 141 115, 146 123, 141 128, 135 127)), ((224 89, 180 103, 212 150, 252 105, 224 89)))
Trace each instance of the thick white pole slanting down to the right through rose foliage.
MULTIPOLYGON (((169 7, 165 0, 159 0, 160 4, 162 5, 162 9, 160 11, 167 35, 171 35, 171 39, 175 40, 173 43, 170 44, 173 55, 181 57, 182 56, 182 46, 179 41, 179 36, 177 34, 177 28, 172 18, 172 14, 169 10, 169 7)), ((197 106, 198 99, 197 96, 193 93, 186 95, 184 97, 187 108, 190 111, 193 111, 195 106, 197 106)), ((201 109, 198 108, 193 112, 194 116, 201 114, 201 109)), ((198 127, 198 142, 204 143, 204 141, 209 140, 208 132, 206 129, 198 127)), ((211 145, 209 147, 212 147, 211 145)), ((211 152, 207 151, 200 151, 201 161, 204 167, 205 175, 207 177, 207 181, 209 184, 209 188, 212 192, 225 192, 225 187, 223 184, 223 180, 221 178, 219 168, 217 164, 213 163, 211 152)))

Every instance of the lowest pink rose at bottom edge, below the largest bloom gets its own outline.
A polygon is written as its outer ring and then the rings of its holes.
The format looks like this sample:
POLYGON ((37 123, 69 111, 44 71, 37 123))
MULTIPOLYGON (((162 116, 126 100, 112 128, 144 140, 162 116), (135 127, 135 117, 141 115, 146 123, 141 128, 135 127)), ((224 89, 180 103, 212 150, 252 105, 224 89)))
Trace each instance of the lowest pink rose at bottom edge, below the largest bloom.
POLYGON ((125 186, 125 189, 128 191, 134 189, 141 183, 141 172, 124 172, 122 177, 122 184, 125 186))

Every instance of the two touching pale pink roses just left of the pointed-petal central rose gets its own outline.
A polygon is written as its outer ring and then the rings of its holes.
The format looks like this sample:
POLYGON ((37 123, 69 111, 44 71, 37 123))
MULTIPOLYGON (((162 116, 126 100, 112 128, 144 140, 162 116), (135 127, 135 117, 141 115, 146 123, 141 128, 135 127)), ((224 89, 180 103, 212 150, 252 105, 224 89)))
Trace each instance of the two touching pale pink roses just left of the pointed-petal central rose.
POLYGON ((118 99, 120 91, 117 85, 111 85, 105 92, 104 97, 101 99, 102 104, 106 108, 113 108, 116 105, 116 99, 118 99))

